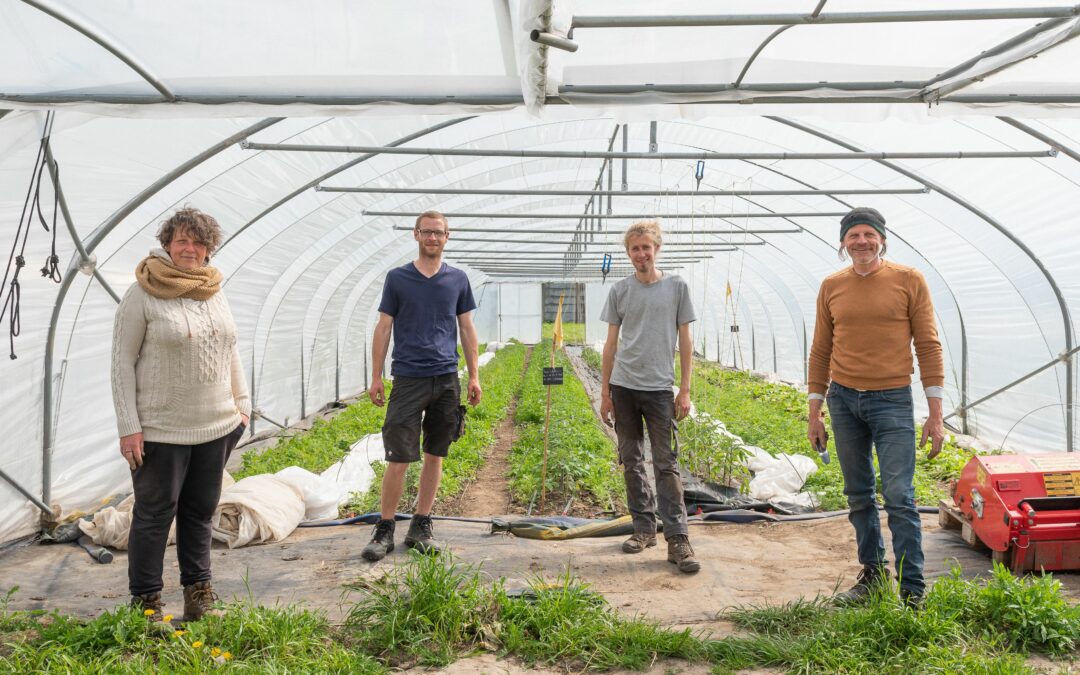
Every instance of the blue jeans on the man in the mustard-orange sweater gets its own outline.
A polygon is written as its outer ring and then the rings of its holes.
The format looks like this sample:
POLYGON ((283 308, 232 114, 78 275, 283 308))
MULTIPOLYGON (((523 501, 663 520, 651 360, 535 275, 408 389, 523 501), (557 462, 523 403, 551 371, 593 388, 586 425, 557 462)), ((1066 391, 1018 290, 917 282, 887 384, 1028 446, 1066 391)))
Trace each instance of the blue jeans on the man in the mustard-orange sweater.
POLYGON ((922 523, 915 507, 915 406, 912 388, 860 391, 833 382, 826 396, 836 456, 843 472, 848 519, 855 528, 859 562, 885 565, 878 516, 873 449, 881 470, 881 492, 889 514, 900 585, 922 594, 922 523))

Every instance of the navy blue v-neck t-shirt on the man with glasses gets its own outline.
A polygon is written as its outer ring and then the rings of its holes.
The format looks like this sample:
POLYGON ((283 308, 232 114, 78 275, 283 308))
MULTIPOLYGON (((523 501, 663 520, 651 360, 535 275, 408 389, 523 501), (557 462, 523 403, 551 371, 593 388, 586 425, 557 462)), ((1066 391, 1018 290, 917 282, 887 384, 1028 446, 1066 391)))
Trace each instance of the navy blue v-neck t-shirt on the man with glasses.
POLYGON ((476 309, 469 278, 443 262, 428 279, 411 262, 387 273, 379 311, 394 319, 391 375, 458 372, 458 316, 476 309))

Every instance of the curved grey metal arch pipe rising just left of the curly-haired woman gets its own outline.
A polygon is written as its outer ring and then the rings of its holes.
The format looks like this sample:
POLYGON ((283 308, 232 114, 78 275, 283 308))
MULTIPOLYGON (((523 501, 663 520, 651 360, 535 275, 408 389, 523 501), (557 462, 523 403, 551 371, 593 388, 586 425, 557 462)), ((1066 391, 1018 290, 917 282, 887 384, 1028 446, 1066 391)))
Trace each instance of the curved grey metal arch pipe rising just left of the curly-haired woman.
MULTIPOLYGON (((172 184, 174 180, 188 173, 199 164, 202 164, 210 158, 216 156, 222 150, 235 145, 240 140, 256 134, 264 129, 272 126, 278 122, 282 121, 284 118, 267 118, 260 122, 252 124, 247 129, 241 130, 231 136, 219 140, 213 146, 206 148, 202 152, 195 154, 188 161, 184 162, 173 171, 168 172, 161 178, 154 180, 152 184, 144 188, 138 194, 133 197, 123 206, 118 208, 108 218, 102 222, 83 242, 86 254, 91 254, 102 243, 109 232, 111 232, 120 222, 127 217, 133 211, 138 208, 144 202, 161 191, 165 186, 172 184)), ((46 504, 50 503, 52 498, 52 460, 53 460, 53 348, 56 343, 56 327, 59 323, 60 310, 64 307, 64 299, 67 297, 67 292, 71 287, 71 281, 75 279, 75 272, 79 268, 79 261, 81 260, 81 255, 79 253, 72 254, 71 260, 68 262, 67 273, 64 275, 64 281, 60 282, 59 291, 56 293, 56 299, 53 301, 53 312, 49 320, 49 336, 45 338, 45 354, 44 354, 44 366, 42 374, 42 436, 41 436, 41 453, 42 453, 42 470, 41 470, 41 501, 46 504)))

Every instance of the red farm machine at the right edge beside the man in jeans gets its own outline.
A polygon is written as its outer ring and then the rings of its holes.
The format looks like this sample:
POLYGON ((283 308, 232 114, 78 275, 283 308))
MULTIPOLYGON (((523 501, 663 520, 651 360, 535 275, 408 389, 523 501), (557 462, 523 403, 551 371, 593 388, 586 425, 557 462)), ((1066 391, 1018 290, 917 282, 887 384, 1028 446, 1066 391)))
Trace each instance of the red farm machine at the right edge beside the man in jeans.
POLYGON ((973 457, 953 500, 942 525, 1014 573, 1080 569, 1080 454, 973 457))

